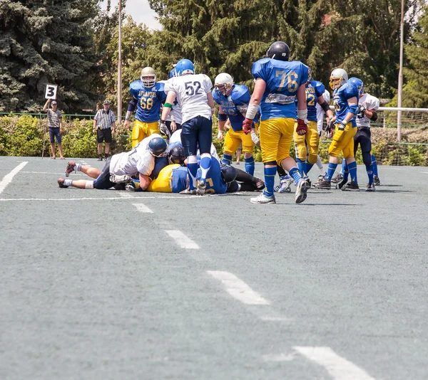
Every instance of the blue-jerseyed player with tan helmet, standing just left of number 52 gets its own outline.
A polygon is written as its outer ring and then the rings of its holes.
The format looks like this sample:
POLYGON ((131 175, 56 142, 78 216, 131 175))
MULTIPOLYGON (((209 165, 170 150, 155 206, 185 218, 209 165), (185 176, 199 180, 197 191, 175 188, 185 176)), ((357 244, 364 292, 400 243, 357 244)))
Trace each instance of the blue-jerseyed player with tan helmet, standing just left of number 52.
POLYGON ((132 147, 153 133, 159 133, 161 104, 166 99, 163 83, 156 83, 156 73, 153 68, 143 68, 141 79, 134 80, 129 85, 132 95, 128 105, 124 126, 128 128, 129 119, 137 107, 136 121, 132 129, 132 147))

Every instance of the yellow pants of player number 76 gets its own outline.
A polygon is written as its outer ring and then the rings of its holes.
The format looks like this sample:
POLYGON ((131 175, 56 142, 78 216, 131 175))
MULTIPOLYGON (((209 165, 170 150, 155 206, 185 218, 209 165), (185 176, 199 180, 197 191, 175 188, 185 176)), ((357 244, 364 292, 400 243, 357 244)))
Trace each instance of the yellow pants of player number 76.
POLYGON ((260 147, 263 162, 277 162, 290 157, 295 120, 291 118, 260 121, 260 147))

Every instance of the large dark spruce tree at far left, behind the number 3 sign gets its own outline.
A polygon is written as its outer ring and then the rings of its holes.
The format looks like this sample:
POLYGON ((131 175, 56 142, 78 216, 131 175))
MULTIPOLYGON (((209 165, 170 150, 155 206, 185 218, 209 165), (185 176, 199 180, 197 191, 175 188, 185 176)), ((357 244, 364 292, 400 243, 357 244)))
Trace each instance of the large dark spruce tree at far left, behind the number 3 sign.
POLYGON ((0 110, 39 112, 47 83, 61 109, 93 107, 96 0, 0 0, 0 110))

